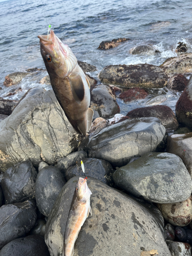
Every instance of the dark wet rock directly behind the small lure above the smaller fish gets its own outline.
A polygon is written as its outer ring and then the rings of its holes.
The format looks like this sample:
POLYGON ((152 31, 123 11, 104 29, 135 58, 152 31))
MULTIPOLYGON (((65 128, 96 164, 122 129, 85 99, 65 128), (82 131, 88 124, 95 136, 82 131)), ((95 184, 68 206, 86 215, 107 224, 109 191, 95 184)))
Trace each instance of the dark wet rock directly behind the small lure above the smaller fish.
MULTIPOLYGON (((83 160, 84 172, 86 176, 100 180, 108 186, 114 186, 114 169, 111 164, 102 159, 85 158, 83 160)), ((65 179, 68 181, 74 176, 83 175, 80 161, 75 166, 71 166, 65 172, 65 179)))

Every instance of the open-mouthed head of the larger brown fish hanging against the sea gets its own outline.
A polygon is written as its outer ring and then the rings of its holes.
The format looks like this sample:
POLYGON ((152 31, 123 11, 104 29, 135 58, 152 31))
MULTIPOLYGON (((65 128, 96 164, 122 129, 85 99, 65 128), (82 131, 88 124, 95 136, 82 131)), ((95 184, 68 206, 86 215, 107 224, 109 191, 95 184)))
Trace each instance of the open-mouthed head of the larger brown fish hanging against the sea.
POLYGON ((40 52, 51 76, 65 78, 77 64, 77 59, 68 45, 64 45, 53 30, 48 35, 38 35, 40 52))

